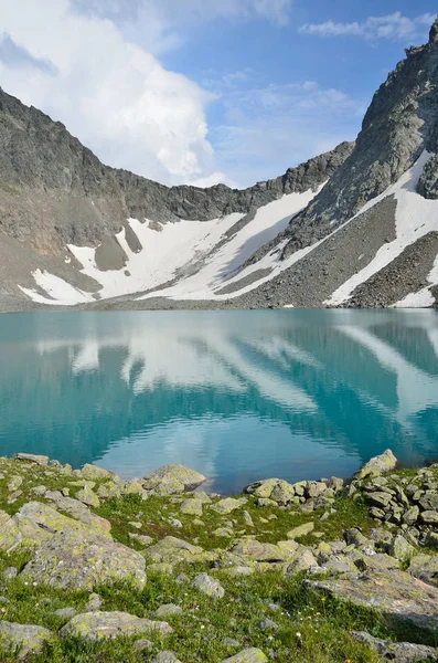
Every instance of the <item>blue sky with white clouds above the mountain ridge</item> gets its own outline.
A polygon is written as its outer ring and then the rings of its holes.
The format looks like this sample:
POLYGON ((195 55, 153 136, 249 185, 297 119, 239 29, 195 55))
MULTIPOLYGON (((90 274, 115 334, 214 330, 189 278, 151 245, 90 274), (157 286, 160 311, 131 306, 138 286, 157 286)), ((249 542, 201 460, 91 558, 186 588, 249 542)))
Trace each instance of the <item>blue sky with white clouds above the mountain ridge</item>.
POLYGON ((0 0, 0 85, 106 164, 252 186, 354 139, 432 0, 0 0))

